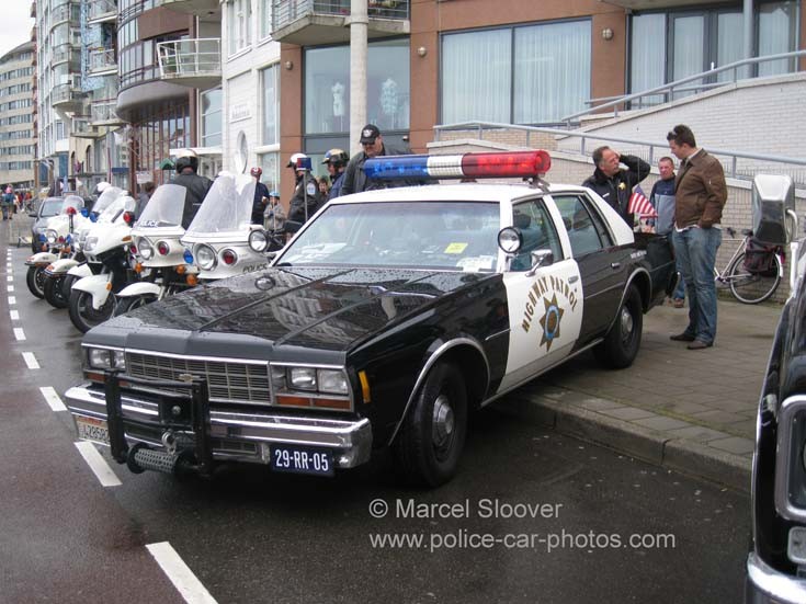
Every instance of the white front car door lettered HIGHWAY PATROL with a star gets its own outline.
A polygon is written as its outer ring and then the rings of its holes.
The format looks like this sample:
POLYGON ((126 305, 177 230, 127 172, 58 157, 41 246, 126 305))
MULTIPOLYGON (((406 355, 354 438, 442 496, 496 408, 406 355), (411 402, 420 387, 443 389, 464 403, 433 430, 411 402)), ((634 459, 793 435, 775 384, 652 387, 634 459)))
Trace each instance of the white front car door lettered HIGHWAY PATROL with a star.
POLYGON ((520 384, 574 350, 582 320, 579 270, 563 252, 557 228, 542 198, 513 205, 512 224, 523 246, 503 275, 509 307, 507 369, 500 390, 520 384), (529 275, 530 254, 550 250, 554 260, 529 275))

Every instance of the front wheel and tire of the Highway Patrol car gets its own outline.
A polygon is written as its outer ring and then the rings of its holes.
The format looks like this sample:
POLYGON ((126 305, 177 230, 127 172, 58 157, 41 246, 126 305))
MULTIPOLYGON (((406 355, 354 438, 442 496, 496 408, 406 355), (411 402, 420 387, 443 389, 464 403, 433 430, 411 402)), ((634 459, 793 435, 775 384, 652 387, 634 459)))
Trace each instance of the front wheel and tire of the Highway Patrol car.
POLYGON ((410 485, 429 488, 451 480, 466 434, 465 380, 456 365, 438 363, 416 395, 395 440, 395 457, 402 478, 410 485))

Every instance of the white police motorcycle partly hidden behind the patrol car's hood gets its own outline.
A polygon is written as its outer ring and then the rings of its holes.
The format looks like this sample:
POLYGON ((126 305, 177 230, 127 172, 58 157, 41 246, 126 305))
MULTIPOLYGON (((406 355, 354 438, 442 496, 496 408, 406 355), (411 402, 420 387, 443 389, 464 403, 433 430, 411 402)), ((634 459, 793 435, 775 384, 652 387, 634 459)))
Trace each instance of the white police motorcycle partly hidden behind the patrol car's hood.
POLYGON ((265 269, 269 261, 250 246, 262 225, 251 224, 254 179, 222 172, 182 237, 184 260, 198 281, 212 281, 265 269), (191 269, 194 270, 194 269, 191 269))

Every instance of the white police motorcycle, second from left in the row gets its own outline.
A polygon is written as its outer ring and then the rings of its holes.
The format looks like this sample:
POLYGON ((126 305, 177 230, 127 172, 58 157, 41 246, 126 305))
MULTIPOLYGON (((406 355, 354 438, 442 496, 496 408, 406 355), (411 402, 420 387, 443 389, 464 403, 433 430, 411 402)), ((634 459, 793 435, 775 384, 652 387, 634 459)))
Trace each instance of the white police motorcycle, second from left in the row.
MULTIPOLYGON (((48 264, 45 269, 45 299, 55 308, 67 308, 70 299, 70 289, 72 284, 79 278, 92 274, 82 251, 82 246, 88 233, 97 223, 109 224, 114 220, 115 212, 110 213, 109 208, 112 203, 123 195, 123 190, 107 185, 98 201, 92 206, 92 212, 86 207, 81 209, 81 215, 88 220, 81 223, 76 228, 76 237, 72 253, 60 258, 59 260, 48 264)), ((114 208, 113 208, 114 210, 114 208)))

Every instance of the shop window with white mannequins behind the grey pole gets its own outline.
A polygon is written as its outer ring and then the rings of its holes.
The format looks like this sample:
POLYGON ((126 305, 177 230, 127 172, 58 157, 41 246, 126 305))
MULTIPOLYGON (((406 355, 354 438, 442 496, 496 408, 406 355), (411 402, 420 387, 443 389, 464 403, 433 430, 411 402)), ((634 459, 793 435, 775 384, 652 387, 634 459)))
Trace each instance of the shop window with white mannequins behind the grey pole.
MULTIPOLYGON (((370 43, 366 100, 367 122, 376 124, 382 133, 408 129, 408 39, 370 43)), ((349 132, 350 47, 344 45, 306 49, 305 133, 349 132)))

